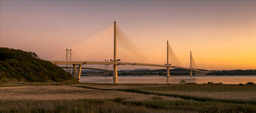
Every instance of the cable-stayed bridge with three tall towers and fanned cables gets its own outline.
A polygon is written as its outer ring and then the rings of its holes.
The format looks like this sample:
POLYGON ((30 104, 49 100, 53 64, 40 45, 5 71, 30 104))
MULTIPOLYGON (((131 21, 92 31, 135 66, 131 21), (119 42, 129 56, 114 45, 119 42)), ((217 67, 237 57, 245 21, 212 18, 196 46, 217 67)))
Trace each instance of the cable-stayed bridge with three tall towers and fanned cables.
POLYGON ((111 71, 113 72, 114 83, 117 83, 118 78, 117 66, 122 65, 166 67, 167 77, 170 77, 169 68, 190 70, 191 77, 192 72, 195 73, 195 76, 204 76, 209 73, 207 71, 192 68, 196 67, 196 64, 191 51, 190 67, 182 67, 168 41, 166 48, 166 64, 161 61, 157 62, 154 57, 154 60, 152 60, 152 58, 147 58, 122 32, 122 30, 116 25, 116 22, 114 22, 114 25, 111 25, 110 27, 72 47, 71 49, 66 49, 61 54, 49 59, 49 61, 55 65, 66 65, 62 66, 62 68, 66 68, 66 70, 70 68, 70 72, 73 68, 74 77, 76 79, 80 79, 82 69, 111 71), (169 60, 171 64, 169 64, 169 60), (83 67, 83 65, 86 65, 86 67, 83 67), (104 65, 105 69, 92 68, 89 67, 89 65, 104 65), (108 65, 113 65, 113 70, 106 70, 106 66, 108 68, 108 65))

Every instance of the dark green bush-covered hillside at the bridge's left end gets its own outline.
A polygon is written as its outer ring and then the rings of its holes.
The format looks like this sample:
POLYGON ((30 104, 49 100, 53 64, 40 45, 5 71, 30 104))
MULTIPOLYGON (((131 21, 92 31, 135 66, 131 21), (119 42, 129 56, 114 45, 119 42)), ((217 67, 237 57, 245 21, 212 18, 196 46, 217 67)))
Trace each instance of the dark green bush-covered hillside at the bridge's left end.
POLYGON ((0 47, 1 82, 78 82, 49 61, 33 52, 0 47))

